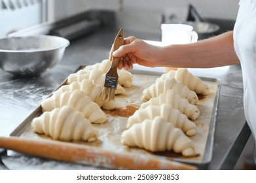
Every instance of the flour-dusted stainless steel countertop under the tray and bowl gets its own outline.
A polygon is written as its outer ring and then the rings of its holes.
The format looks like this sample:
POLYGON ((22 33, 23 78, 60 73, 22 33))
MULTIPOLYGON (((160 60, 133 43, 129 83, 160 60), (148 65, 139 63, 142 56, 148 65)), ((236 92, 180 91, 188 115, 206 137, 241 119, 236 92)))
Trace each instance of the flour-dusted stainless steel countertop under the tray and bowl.
MULTIPOLYGON (((62 61, 37 78, 13 78, 9 73, 0 71, 0 135, 8 137, 33 109, 40 105, 41 101, 79 65, 91 65, 108 58, 117 31, 118 29, 105 27, 72 41, 62 61)), ((140 39, 160 41, 160 35, 125 31, 124 33, 126 37, 135 35, 140 39)), ((213 69, 190 69, 190 71, 194 75, 221 80, 213 158, 207 169, 233 169, 251 133, 244 116, 240 65, 213 69)), ((2 158, 11 169, 88 168, 23 154, 2 158)), ((0 169, 5 169, 1 163, 0 169)))

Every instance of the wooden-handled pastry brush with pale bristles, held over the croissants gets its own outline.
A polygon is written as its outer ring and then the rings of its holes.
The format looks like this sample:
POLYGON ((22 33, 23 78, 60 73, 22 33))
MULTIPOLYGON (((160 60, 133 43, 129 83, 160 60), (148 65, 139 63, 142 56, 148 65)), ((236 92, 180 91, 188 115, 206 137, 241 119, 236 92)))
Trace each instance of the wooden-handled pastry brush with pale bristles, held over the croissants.
MULTIPOLYGON (((113 52, 119 49, 120 46, 124 44, 124 33, 122 28, 119 33, 115 37, 115 41, 113 44, 113 52)), ((119 75, 117 73, 117 66, 120 58, 116 58, 112 56, 112 63, 109 71, 105 76, 105 84, 103 90, 101 92, 101 99, 105 101, 112 101, 115 99, 115 90, 117 89, 117 84, 119 81, 119 75)))

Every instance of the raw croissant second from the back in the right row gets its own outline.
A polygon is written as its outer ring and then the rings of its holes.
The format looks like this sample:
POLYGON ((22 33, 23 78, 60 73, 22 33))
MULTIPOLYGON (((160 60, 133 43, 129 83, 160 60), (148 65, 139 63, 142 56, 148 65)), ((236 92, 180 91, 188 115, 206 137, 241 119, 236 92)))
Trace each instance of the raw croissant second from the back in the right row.
POLYGON ((189 103, 193 105, 198 103, 198 96, 196 93, 189 90, 187 86, 184 86, 181 82, 175 80, 175 78, 159 80, 155 84, 152 84, 149 88, 143 90, 141 101, 149 101, 149 99, 158 97, 161 93, 166 93, 169 89, 173 89, 176 93, 179 93, 181 97, 188 99, 189 103))

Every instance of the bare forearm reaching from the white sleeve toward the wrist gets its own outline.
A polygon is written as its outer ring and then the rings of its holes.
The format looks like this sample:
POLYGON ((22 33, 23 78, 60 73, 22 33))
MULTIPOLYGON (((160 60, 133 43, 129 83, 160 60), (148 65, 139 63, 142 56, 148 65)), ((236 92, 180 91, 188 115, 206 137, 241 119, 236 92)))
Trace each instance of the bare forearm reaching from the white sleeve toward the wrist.
POLYGON ((192 44, 166 46, 161 52, 162 60, 156 64, 160 67, 208 68, 240 63, 232 31, 192 44))

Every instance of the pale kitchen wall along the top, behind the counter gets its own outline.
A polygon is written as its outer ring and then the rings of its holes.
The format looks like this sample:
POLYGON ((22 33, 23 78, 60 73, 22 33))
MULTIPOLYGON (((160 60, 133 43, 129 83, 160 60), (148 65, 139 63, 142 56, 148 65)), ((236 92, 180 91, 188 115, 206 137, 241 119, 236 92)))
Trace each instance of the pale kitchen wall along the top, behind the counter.
POLYGON ((65 16, 78 14, 92 8, 105 10, 137 10, 138 12, 159 12, 166 17, 187 16, 188 5, 196 7, 204 18, 221 18, 235 20, 238 12, 239 0, 50 0, 48 20, 62 19, 65 16))

